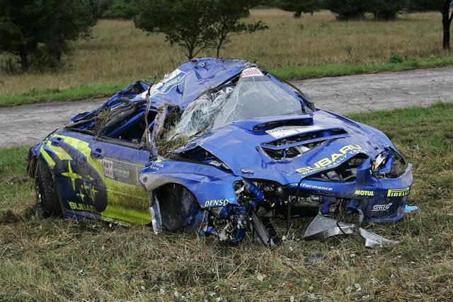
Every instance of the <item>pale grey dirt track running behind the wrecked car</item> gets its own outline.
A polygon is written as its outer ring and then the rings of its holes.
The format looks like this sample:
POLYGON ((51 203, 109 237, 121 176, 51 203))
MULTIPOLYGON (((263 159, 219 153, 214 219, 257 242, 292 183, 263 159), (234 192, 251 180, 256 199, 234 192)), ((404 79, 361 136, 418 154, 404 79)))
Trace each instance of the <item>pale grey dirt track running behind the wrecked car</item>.
MULTIPOLYGON (((453 102, 453 68, 293 81, 317 108, 337 113, 453 102)), ((106 98, 0 108, 0 148, 31 145, 72 115, 101 105, 106 98)))

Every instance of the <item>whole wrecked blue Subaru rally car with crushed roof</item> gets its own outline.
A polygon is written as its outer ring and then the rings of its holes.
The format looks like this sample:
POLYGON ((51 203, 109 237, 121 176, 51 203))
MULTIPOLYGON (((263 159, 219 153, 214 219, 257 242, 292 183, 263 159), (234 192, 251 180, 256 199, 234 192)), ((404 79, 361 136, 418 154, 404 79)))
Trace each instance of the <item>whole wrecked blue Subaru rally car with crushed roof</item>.
POLYGON ((47 216, 224 243, 249 233, 275 245, 273 221, 289 231, 307 216, 306 240, 393 242, 361 226, 402 219, 412 185, 411 164, 379 130, 315 108, 256 64, 214 58, 72 117, 30 149, 28 165, 47 216))

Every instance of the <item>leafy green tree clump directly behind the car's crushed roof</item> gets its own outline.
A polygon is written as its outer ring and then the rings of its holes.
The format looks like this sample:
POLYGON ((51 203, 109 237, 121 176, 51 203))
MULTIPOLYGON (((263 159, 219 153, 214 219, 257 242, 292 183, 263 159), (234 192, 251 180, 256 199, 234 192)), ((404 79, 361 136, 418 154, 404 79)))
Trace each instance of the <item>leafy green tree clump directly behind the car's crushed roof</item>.
POLYGON ((183 48, 188 59, 201 50, 216 48, 217 55, 231 35, 266 28, 260 21, 246 24, 253 1, 144 0, 134 23, 150 33, 164 33, 170 45, 183 48))

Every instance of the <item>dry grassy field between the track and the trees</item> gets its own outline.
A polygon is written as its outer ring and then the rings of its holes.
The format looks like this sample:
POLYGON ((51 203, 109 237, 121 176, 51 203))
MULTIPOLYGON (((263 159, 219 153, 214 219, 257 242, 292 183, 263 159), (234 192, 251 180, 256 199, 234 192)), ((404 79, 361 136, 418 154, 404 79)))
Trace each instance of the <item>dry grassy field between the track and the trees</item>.
MULTIPOLYGON (((440 13, 338 22, 328 11, 295 19, 288 12, 259 9, 250 18, 270 29, 234 37, 221 55, 258 62, 286 79, 453 64, 442 51, 440 13)), ((64 59, 64 68, 45 74, 0 71, 0 106, 105 95, 134 80, 162 76, 173 70, 170 57, 175 64, 186 60, 164 41, 164 35, 147 35, 132 21, 99 21, 93 39, 74 42, 74 55, 64 59)))

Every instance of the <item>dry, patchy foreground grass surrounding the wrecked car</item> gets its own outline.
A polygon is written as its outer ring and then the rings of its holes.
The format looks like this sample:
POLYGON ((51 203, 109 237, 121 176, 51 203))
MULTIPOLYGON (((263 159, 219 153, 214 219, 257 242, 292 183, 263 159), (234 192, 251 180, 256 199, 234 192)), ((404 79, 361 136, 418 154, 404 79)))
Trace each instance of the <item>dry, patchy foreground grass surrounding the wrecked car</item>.
POLYGON ((445 103, 351 116, 384 130, 413 163, 410 203, 420 211, 372 228, 401 240, 382 250, 357 237, 303 242, 298 229, 277 248, 250 239, 224 248, 151 228, 43 219, 25 178, 27 149, 0 149, 0 301, 452 301, 452 115, 445 103))

